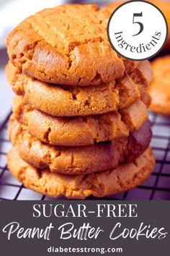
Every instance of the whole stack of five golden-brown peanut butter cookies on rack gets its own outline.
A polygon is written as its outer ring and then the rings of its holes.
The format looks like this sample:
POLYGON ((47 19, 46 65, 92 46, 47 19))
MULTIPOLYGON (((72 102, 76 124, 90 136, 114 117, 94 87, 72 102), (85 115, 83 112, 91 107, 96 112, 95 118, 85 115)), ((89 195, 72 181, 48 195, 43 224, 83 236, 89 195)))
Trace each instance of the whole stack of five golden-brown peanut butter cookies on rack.
POLYGON ((107 9, 45 9, 7 38, 6 77, 17 95, 9 170, 44 195, 85 198, 127 191, 151 174, 148 61, 117 56, 107 9))

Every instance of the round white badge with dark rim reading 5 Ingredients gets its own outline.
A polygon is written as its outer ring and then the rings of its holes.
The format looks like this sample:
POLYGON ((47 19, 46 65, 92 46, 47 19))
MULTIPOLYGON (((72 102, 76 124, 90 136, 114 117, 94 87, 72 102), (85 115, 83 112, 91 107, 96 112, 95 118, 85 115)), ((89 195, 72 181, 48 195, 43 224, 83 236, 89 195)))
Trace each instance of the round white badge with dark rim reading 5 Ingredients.
POLYGON ((131 60, 150 59, 166 42, 168 25, 164 14, 148 1, 128 1, 112 13, 107 25, 111 46, 131 60))

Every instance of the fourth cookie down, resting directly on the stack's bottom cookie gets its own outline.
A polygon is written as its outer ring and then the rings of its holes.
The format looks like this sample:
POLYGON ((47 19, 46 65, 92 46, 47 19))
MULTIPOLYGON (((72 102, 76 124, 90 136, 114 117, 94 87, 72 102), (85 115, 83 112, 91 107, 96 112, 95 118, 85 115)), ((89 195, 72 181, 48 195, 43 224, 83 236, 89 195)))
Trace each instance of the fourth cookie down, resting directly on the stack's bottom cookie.
POLYGON ((116 168, 141 155, 151 141, 151 124, 146 121, 127 138, 94 145, 57 147, 40 142, 11 118, 9 138, 22 159, 32 166, 64 174, 88 174, 116 168))

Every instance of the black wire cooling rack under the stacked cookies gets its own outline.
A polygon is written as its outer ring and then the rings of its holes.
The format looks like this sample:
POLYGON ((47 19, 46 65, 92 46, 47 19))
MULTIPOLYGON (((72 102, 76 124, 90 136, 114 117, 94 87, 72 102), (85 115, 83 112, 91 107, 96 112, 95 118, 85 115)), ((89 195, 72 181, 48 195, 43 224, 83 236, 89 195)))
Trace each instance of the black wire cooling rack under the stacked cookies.
MULTIPOLYGON (((6 153, 11 148, 7 128, 9 116, 0 126, 0 200, 52 200, 25 188, 10 174, 6 166, 6 153)), ((156 166, 150 178, 129 192, 104 197, 106 200, 170 200, 170 118, 149 113, 153 138, 151 146, 156 166)), ((58 199, 63 199, 60 197, 58 199)), ((89 199, 97 199, 89 197, 89 199)))

